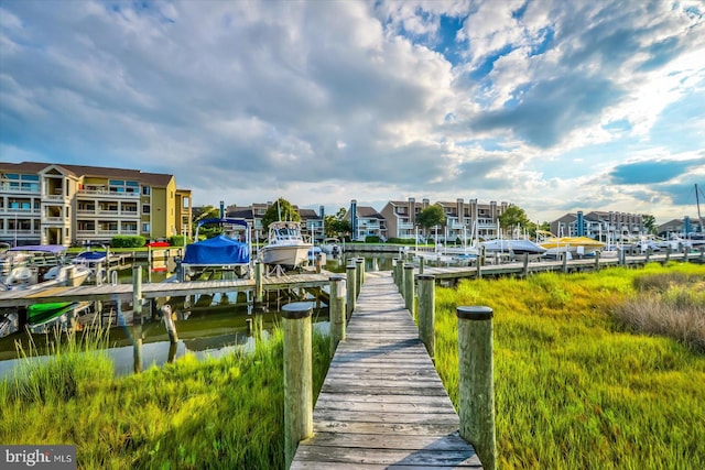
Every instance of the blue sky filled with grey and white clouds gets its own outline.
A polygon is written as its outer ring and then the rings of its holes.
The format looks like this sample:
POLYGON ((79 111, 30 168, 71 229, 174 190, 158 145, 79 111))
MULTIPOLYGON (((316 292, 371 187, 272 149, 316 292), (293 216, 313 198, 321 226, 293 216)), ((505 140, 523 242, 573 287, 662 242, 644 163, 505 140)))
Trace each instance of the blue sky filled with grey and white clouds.
POLYGON ((196 205, 693 217, 705 4, 1 0, 0 161, 169 173, 196 205))

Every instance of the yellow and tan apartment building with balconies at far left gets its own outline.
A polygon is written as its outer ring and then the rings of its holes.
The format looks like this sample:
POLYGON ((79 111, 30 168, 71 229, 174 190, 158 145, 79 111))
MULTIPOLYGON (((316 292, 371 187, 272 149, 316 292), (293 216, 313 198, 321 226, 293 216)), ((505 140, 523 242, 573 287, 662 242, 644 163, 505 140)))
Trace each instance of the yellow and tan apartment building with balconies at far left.
POLYGON ((173 175, 61 163, 0 163, 0 241, 12 245, 189 234, 191 212, 191 190, 176 188, 173 175))

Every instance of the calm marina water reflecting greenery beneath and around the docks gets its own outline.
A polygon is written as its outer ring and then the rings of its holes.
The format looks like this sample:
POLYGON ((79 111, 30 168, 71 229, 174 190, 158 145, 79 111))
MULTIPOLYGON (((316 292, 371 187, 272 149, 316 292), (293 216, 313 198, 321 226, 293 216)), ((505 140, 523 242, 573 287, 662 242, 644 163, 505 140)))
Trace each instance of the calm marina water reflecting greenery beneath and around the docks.
MULTIPOLYGON (((365 253, 366 271, 389 271, 392 267, 392 259, 397 254, 380 253, 372 255, 365 253)), ((345 273, 349 258, 359 258, 345 253, 341 259, 330 259, 328 256, 325 269, 330 272, 345 273)), ((142 273, 144 282, 161 282, 171 276, 167 272, 151 272, 147 270, 142 273)), ((122 271, 119 275, 120 283, 131 283, 132 272, 122 271)), ((230 295, 230 298, 234 298, 230 295)), ((248 319, 253 315, 248 311, 248 306, 221 306, 220 296, 213 298, 212 307, 193 310, 187 318, 180 318, 175 321, 178 334, 177 345, 172 346, 162 321, 150 321, 143 326, 142 340, 142 368, 149 369, 152 365, 161 367, 169 361, 182 358, 185 354, 194 354, 197 358, 220 357, 236 350, 250 351, 254 348, 256 338, 248 331, 248 319)), ((262 340, 267 340, 269 331, 274 327, 281 305, 270 305, 269 311, 263 315, 262 340)), ((328 310, 326 306, 316 308, 314 305, 313 319, 315 328, 327 334, 328 310)), ((47 350, 47 341, 54 335, 34 335, 33 341, 39 352, 37 360, 46 360, 43 356, 47 350)), ((0 339, 0 378, 8 376, 12 370, 22 361, 18 358, 15 341, 22 341, 23 348, 29 349, 29 338, 26 334, 14 334, 0 339)), ((112 359, 117 375, 133 372, 133 347, 130 329, 127 327, 113 327, 110 329, 110 348, 108 356, 112 359)))

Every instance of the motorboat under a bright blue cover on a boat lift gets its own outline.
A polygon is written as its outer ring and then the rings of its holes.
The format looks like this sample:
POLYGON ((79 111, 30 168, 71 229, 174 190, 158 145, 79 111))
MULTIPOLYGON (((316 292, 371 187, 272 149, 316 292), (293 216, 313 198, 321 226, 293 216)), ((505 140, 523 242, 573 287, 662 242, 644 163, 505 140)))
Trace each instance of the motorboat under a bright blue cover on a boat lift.
POLYGON ((214 237, 186 245, 181 263, 184 278, 203 278, 218 273, 249 277, 250 275, 250 226, 245 219, 228 217, 200 220, 196 226, 196 240, 202 231, 214 230, 214 237), (226 274, 227 273, 227 274, 226 274))

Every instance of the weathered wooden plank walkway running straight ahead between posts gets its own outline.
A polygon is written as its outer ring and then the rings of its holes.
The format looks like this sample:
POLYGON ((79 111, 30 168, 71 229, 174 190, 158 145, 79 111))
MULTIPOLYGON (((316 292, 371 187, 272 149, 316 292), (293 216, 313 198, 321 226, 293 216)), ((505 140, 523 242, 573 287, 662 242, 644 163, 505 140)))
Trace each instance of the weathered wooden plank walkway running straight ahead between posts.
POLYGON ((291 468, 482 468, 391 274, 360 291, 291 468))

